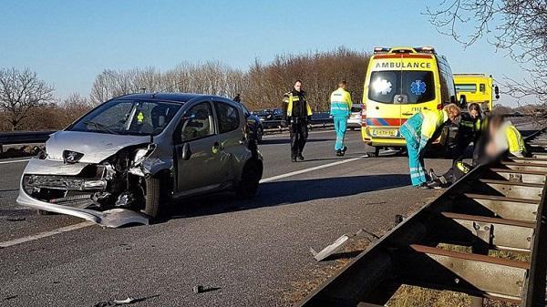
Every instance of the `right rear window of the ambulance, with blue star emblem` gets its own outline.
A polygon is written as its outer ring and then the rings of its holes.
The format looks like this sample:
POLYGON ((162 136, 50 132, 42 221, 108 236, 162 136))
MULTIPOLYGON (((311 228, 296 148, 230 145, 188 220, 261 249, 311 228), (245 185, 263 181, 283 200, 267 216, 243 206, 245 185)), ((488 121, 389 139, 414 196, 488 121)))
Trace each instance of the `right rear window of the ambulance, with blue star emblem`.
POLYGON ((431 71, 403 71, 401 94, 408 103, 422 103, 435 99, 435 82, 431 71))

